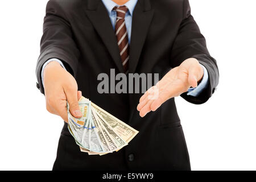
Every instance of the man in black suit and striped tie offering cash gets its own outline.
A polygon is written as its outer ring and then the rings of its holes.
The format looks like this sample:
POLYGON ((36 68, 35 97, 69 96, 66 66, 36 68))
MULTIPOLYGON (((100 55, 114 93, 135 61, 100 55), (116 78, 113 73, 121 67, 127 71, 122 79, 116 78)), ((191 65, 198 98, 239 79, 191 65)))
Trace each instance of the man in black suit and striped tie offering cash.
MULTIPOLYGON (((174 98, 207 102, 218 84, 218 68, 188 0, 51 0, 40 45, 37 86, 47 110, 65 121, 54 170, 191 169, 174 98), (152 88, 99 93, 98 75, 110 77, 110 69, 158 74, 160 81, 152 87, 158 97, 149 97, 152 88), (113 154, 80 152, 67 128, 66 105, 80 118, 81 95, 139 134, 113 154)), ((195 115, 199 118, 200 111, 195 115)))

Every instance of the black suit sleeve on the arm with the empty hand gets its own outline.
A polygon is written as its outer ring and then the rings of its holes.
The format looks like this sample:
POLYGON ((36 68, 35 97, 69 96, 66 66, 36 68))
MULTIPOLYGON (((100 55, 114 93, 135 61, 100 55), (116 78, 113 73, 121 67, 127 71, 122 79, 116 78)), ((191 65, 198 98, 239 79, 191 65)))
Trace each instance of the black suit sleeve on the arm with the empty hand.
POLYGON ((212 96, 218 85, 218 67, 216 60, 210 56, 205 38, 191 15, 188 0, 184 0, 183 20, 171 53, 172 67, 179 66, 190 57, 197 59, 207 69, 209 84, 197 97, 188 96, 187 93, 181 94, 181 97, 193 104, 203 104, 212 96))

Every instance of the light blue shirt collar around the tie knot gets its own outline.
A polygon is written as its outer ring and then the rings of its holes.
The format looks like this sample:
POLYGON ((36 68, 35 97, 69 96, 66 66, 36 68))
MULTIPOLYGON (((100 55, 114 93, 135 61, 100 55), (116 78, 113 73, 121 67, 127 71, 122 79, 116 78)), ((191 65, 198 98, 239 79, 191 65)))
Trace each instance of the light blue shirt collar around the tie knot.
MULTIPOLYGON (((109 15, 111 14, 111 12, 115 6, 119 6, 119 5, 117 5, 117 3, 115 3, 112 0, 101 0, 101 1, 104 3, 106 9, 108 10, 109 15)), ((133 15, 133 11, 134 11, 134 8, 135 8, 137 2, 138 2, 138 0, 129 0, 122 6, 126 6, 129 10, 129 13, 131 15, 133 15)))

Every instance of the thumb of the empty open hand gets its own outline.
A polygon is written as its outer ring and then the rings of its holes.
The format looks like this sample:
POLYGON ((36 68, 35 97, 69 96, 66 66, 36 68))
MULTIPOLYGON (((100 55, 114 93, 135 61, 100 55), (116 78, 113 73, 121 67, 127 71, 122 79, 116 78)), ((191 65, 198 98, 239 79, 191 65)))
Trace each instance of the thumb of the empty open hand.
POLYGON ((193 88, 197 87, 197 82, 203 77, 203 68, 199 65, 188 70, 188 84, 193 88))

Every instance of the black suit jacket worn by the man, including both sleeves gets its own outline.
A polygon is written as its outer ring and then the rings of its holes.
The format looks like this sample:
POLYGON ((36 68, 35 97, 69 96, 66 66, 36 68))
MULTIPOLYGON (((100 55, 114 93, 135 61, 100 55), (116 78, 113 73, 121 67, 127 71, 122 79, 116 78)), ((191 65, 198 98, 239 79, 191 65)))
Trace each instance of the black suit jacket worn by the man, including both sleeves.
MULTIPOLYGON (((190 169, 174 98, 141 118, 136 107, 142 94, 97 92, 98 74, 110 75, 110 68, 115 73, 123 72, 117 39, 100 0, 48 2, 36 66, 42 93, 42 65, 53 57, 63 61, 83 96, 139 131, 118 152, 88 156, 80 152, 64 124, 53 169, 190 169)), ((198 97, 186 93, 181 96, 203 104, 218 84, 218 68, 191 15, 188 0, 139 0, 133 13, 130 73, 159 73, 161 78, 189 57, 195 57, 207 68, 209 84, 198 97)))

